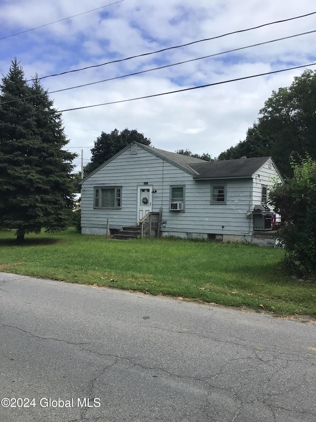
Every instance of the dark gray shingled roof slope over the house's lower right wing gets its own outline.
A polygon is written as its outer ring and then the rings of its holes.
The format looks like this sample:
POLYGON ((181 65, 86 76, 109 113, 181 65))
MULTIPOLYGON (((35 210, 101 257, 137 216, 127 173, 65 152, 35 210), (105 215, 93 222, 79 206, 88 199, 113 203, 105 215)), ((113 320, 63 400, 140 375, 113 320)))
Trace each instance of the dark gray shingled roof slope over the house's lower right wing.
POLYGON ((198 173, 194 179, 228 179, 251 177, 271 157, 238 158, 237 160, 203 161, 190 164, 198 173))

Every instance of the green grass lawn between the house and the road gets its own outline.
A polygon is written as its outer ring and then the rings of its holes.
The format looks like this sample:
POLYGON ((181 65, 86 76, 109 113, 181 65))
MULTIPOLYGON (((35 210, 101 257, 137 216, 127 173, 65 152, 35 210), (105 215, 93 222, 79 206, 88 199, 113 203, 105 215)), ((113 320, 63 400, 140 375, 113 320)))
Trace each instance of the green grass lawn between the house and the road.
POLYGON ((74 229, 0 232, 0 271, 200 299, 276 314, 316 316, 316 283, 290 281, 282 249, 177 239, 119 241, 74 229))

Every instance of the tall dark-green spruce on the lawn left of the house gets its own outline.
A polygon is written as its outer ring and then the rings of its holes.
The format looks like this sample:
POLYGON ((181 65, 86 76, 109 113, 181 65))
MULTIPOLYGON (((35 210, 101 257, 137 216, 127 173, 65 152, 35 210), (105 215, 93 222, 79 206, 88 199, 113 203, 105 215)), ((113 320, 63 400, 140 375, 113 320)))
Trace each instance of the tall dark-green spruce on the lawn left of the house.
POLYGON ((61 114, 35 78, 28 86, 12 61, 0 86, 0 226, 28 233, 67 228, 72 201, 72 154, 61 114))

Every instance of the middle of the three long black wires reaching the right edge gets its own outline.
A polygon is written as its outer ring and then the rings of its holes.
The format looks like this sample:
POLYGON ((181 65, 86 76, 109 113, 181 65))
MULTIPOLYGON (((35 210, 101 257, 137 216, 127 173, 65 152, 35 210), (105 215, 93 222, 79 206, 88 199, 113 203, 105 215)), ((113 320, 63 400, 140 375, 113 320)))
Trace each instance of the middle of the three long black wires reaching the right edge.
MULTIPOLYGON (((275 39, 275 40, 265 41, 265 42, 263 42, 263 43, 252 44, 251 46, 238 47, 238 48, 234 48, 234 49, 232 49, 232 50, 221 51, 221 52, 219 52, 219 53, 209 54, 209 55, 207 55, 207 56, 197 57, 197 58, 193 58, 193 59, 190 59, 190 60, 184 60, 184 61, 180 61, 180 62, 178 62, 178 63, 166 64, 166 65, 164 65, 164 66, 154 67, 154 68, 152 68, 152 69, 141 70, 141 71, 139 71, 139 72, 134 72, 134 73, 128 73, 127 75, 121 75, 121 76, 116 76, 116 77, 114 77, 114 78, 103 79, 102 81, 90 82, 90 83, 88 83, 88 84, 77 85, 77 86, 75 86, 75 87, 69 87, 69 88, 63 88, 63 89, 61 89, 61 90, 50 91, 50 92, 48 92, 47 94, 56 94, 56 93, 61 93, 61 92, 63 92, 63 91, 69 91, 69 90, 74 90, 74 89, 77 89, 77 88, 87 87, 87 86, 90 86, 90 85, 100 84, 100 83, 102 83, 102 82, 108 82, 108 81, 114 81, 115 79, 126 78, 126 77, 128 77, 128 76, 136 76, 136 75, 140 75, 140 74, 142 74, 142 73, 152 72, 153 70, 165 69, 165 68, 167 68, 167 67, 177 66, 177 65, 179 65, 179 64, 190 63, 190 62, 192 62, 192 61, 202 60, 202 59, 204 59, 204 58, 215 57, 215 56, 219 56, 219 55, 222 55, 222 54, 232 53, 232 52, 236 52, 236 51, 239 51, 239 50, 244 50, 244 49, 246 49, 246 48, 250 48, 250 47, 263 46, 263 45, 265 45, 265 44, 271 44, 271 43, 275 43, 275 42, 277 42, 277 41, 287 40, 287 39, 289 39, 289 38, 300 37, 301 35, 312 34, 312 33, 315 33, 315 32, 316 32, 316 30, 314 30, 314 31, 308 31, 308 32, 302 32, 301 34, 296 34, 296 35, 289 35, 288 37, 282 37, 282 38, 277 38, 277 39, 275 39)), ((27 98, 21 98, 21 99, 22 99, 22 100, 25 100, 25 99, 35 98, 35 97, 40 96, 40 95, 41 95, 41 94, 30 95, 30 96, 28 96, 27 98)), ((10 103, 10 102, 19 101, 19 100, 20 100, 20 99, 12 99, 12 100, 10 100, 10 101, 3 101, 3 102, 2 102, 2 104, 7 104, 7 103, 10 103)), ((75 128, 75 129, 76 129, 76 128, 75 128)))

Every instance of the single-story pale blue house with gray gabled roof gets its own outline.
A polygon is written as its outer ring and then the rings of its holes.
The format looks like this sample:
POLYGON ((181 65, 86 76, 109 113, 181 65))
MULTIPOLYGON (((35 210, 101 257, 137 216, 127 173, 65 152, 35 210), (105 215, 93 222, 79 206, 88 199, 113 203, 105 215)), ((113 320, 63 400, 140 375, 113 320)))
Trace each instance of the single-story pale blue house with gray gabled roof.
POLYGON ((281 180, 271 157, 209 162, 132 142, 82 180, 81 233, 106 234, 108 222, 115 234, 152 213, 161 236, 256 243, 281 180))

